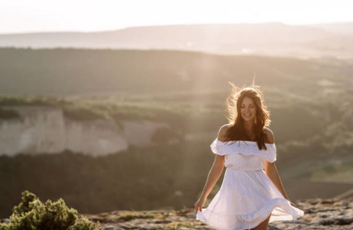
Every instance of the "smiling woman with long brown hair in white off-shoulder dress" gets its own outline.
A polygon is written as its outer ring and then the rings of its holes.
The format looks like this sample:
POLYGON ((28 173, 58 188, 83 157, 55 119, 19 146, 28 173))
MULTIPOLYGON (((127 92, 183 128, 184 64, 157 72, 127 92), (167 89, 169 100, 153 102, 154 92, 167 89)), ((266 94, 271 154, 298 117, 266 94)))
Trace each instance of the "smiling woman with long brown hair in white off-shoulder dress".
POLYGON ((210 145, 215 161, 195 203, 196 219, 221 230, 264 230, 270 222, 303 216, 289 201, 275 167, 274 135, 267 127, 270 117, 261 90, 254 84, 242 89, 231 85, 229 123, 210 145), (203 208, 224 167, 220 190, 203 208))

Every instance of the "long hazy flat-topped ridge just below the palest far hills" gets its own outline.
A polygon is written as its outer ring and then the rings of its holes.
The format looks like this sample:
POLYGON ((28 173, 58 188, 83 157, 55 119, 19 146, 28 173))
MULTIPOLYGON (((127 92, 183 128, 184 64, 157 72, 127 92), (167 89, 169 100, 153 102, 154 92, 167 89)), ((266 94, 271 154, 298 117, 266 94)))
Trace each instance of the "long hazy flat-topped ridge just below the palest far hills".
POLYGON ((170 50, 0 49, 0 92, 67 97, 224 91, 258 84, 297 92, 349 88, 352 64, 336 59, 221 56, 170 50), (305 84, 305 85, 303 85, 305 84), (298 91, 299 90, 299 91, 298 91))

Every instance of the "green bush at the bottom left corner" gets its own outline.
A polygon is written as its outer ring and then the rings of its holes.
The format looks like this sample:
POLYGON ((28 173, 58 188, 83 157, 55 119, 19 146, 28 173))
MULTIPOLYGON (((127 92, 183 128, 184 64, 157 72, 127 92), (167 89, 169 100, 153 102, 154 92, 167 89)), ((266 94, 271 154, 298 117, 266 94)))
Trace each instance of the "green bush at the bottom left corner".
POLYGON ((0 230, 102 230, 102 227, 87 217, 78 219, 77 210, 68 208, 62 198, 43 203, 25 190, 20 204, 13 207, 10 221, 0 224, 0 230))

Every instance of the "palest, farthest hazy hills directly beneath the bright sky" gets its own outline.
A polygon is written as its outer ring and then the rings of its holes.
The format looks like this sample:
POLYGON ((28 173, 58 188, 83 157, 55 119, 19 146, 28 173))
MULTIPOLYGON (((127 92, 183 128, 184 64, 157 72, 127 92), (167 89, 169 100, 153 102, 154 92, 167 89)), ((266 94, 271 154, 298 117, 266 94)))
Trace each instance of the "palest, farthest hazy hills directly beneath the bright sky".
POLYGON ((353 58, 353 23, 161 25, 104 32, 0 35, 0 47, 177 49, 215 54, 353 58))

